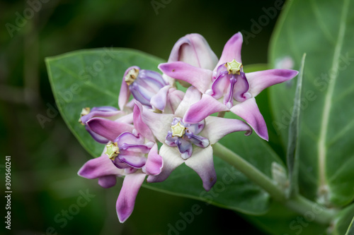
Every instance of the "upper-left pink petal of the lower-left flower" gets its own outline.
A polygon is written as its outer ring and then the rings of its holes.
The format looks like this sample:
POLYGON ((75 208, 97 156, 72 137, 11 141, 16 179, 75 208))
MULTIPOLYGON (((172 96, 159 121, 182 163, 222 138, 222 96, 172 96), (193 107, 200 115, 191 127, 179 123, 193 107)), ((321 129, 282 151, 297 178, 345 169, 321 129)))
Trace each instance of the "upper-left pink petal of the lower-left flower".
POLYGON ((94 133, 97 133, 110 141, 114 141, 115 138, 125 131, 131 132, 134 128, 127 123, 110 121, 103 118, 90 119, 86 122, 86 125, 89 126, 94 133))

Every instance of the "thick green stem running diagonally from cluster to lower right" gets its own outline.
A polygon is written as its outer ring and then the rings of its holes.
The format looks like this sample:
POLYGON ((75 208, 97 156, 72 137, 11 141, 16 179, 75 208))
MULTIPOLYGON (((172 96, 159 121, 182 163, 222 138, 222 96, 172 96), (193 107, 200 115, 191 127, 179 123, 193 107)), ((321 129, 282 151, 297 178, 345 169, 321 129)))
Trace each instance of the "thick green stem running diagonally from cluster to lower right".
POLYGON ((336 213, 335 211, 322 207, 311 200, 307 200, 307 198, 302 197, 302 195, 286 198, 285 191, 279 188, 274 183, 273 179, 270 179, 262 171, 258 170, 252 164, 232 152, 232 150, 229 150, 224 145, 215 143, 215 145, 213 145, 213 152, 214 155, 241 171, 244 175, 251 179, 251 181, 257 183, 258 186, 261 186, 261 188, 269 193, 272 198, 287 206, 292 211, 298 212, 300 215, 305 215, 307 212, 318 212, 318 214, 314 217, 314 221, 319 222, 320 224, 329 224, 333 219, 336 213))

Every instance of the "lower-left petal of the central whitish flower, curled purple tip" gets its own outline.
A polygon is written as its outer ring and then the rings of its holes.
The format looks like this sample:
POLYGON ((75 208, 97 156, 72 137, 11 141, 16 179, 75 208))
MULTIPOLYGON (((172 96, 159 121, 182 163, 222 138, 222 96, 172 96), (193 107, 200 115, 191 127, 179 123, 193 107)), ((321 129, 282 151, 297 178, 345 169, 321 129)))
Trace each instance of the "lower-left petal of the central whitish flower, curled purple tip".
POLYGON ((164 144, 160 148, 159 155, 161 155, 162 159, 164 159, 164 167, 162 167, 160 174, 156 176, 150 175, 147 177, 147 181, 149 183, 162 182, 166 180, 171 172, 184 162, 177 147, 169 147, 164 144))

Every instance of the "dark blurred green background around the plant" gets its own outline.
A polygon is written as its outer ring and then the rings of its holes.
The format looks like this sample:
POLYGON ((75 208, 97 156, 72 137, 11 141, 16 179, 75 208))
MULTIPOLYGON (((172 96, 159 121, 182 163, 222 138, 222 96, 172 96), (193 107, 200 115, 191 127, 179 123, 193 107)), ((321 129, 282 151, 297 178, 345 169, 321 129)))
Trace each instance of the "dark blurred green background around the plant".
MULTIPOLYGON (((51 108, 55 100, 44 58, 77 49, 130 47, 168 59, 173 44, 191 32, 203 35, 220 56, 229 37, 241 30, 251 32, 253 23, 265 15, 264 8, 274 4, 274 0, 0 1, 1 188, 5 156, 10 155, 13 191, 11 231, 3 222, 0 231, 38 235, 263 234, 235 212, 146 188, 141 188, 130 219, 120 224, 115 201, 122 181, 107 190, 96 180, 77 176, 91 156, 51 108), (47 119, 41 125, 38 118, 43 116, 47 119), (79 206, 78 198, 87 191, 94 197, 79 206), (171 226, 182 226, 181 213, 190 212, 195 204, 202 213, 185 223, 183 231, 172 231, 171 226)), ((245 65, 267 61, 268 42, 279 13, 245 40, 245 65)), ((1 198, 0 207, 4 207, 4 196, 1 198)))

